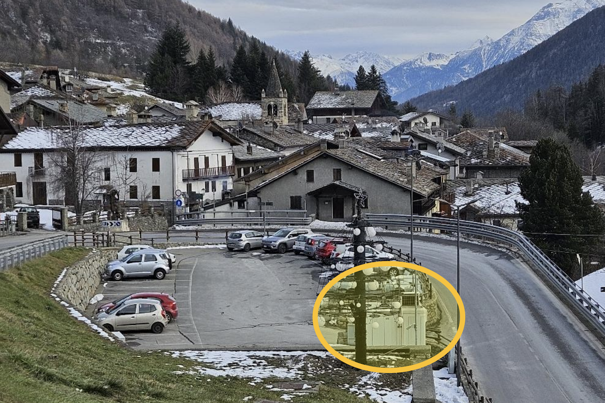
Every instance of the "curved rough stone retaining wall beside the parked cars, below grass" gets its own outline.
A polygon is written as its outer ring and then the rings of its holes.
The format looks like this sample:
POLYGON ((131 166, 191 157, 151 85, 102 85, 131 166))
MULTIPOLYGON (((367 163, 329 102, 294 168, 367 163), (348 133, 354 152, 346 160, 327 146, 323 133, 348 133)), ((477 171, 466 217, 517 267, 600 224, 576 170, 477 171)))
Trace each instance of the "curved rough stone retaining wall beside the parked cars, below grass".
POLYGON ((78 309, 85 309, 99 287, 106 263, 116 259, 117 251, 118 248, 94 250, 84 259, 70 266, 57 286, 57 294, 78 309))

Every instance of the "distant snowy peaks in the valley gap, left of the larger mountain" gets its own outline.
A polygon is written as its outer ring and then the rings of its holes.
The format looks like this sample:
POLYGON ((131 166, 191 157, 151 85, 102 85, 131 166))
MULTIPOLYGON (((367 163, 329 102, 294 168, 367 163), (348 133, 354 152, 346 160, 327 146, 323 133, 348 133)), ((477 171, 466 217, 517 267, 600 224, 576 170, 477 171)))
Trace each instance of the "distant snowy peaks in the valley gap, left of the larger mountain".
MULTIPOLYGON (((286 50, 286 54, 293 59, 300 60, 304 52, 286 50)), ((382 56, 378 53, 365 51, 347 54, 341 59, 335 59, 329 54, 312 54, 311 57, 315 67, 321 70, 321 74, 324 76, 330 75, 339 83, 351 86, 355 86, 355 73, 360 65, 364 66, 366 70, 371 65, 375 65, 378 71, 384 74, 403 61, 399 57, 382 56)))

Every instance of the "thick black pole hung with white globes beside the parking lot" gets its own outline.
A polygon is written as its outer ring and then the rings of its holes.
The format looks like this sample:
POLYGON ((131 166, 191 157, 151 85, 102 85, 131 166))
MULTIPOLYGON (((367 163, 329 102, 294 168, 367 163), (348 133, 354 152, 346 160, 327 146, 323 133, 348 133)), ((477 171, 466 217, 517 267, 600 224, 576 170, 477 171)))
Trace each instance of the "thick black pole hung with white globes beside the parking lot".
MULTIPOLYGON (((368 196, 362 192, 356 193, 357 214, 353 219, 353 248, 355 250, 355 266, 365 263, 365 220, 361 216, 361 207, 368 196), (361 250, 361 252, 359 251, 361 250)), ((365 329, 365 274, 362 270, 355 272, 355 361, 359 364, 367 364, 367 336, 365 329)))

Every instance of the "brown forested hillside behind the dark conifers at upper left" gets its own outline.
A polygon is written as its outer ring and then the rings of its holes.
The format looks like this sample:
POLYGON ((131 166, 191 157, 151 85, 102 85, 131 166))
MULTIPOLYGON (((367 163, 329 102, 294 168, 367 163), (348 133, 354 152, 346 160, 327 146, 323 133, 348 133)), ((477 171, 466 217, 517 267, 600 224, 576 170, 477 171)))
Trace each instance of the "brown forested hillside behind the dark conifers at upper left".
MULTIPOLYGON (((191 44, 189 59, 214 50, 230 63, 240 45, 257 39, 231 20, 218 19, 181 0, 2 0, 0 60, 142 76, 163 31, 177 22, 191 44)), ((272 57, 276 50, 258 42, 272 57)), ((281 65, 295 63, 279 53, 281 65)))

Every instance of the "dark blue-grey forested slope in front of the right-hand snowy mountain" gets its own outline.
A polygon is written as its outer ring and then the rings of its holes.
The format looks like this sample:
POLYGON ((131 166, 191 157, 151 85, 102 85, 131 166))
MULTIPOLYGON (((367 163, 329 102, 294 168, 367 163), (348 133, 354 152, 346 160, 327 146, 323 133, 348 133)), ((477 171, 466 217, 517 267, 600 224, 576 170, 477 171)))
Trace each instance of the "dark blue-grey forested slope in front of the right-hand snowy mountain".
POLYGON ((538 89, 552 85, 571 88, 604 62, 605 7, 600 7, 516 59, 411 102, 421 109, 441 110, 455 102, 458 111, 492 115, 522 108, 538 89))

